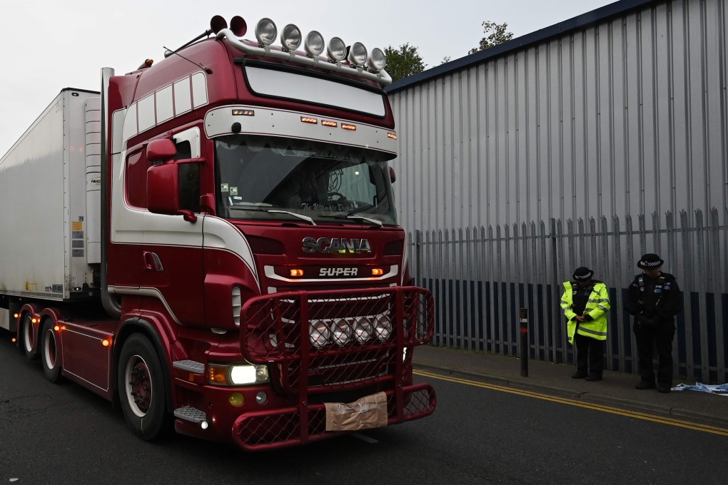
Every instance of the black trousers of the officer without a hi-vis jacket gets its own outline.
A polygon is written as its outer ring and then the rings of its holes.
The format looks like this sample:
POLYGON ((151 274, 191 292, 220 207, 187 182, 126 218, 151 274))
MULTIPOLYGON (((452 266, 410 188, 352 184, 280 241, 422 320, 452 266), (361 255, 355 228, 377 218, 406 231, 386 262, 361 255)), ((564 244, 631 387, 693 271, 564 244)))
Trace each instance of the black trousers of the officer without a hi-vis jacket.
POLYGON ((673 385, 674 319, 663 320, 654 329, 646 329, 636 321, 633 327, 637 340, 640 379, 654 382, 654 348, 657 348, 657 385, 673 385))

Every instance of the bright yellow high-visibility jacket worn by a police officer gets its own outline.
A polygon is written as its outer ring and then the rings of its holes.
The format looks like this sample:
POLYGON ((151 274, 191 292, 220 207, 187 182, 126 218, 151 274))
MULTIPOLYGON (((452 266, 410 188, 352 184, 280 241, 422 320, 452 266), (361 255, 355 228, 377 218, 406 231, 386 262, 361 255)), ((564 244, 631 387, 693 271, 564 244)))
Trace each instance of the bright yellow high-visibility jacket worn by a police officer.
POLYGON ((589 295, 583 315, 593 318, 592 321, 579 322, 577 314, 574 313, 574 288, 571 281, 564 281, 563 295, 561 296, 561 308, 566 315, 568 322, 566 329, 569 332, 569 343, 574 344, 574 333, 591 337, 596 340, 606 340, 606 312, 609 311, 609 291, 601 281, 594 283, 594 289, 589 295), (578 329, 577 329, 577 324, 578 329))

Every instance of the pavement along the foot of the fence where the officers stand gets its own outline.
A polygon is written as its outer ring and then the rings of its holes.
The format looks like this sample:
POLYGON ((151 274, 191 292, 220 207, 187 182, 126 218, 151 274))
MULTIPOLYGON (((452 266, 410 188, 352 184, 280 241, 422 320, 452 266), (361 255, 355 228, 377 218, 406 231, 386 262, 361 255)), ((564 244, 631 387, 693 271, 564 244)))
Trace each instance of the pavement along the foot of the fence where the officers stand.
MULTIPOLYGON (((695 390, 670 393, 659 393, 656 389, 637 390, 635 385, 639 377, 635 374, 605 371, 604 380, 587 382, 571 378, 576 371, 573 365, 529 360, 528 377, 523 377, 519 358, 434 345, 415 348, 413 360, 415 370, 701 422, 728 432, 728 396, 695 390)), ((681 382, 673 382, 673 386, 681 382)), ((682 383, 695 385, 695 382, 682 383)))

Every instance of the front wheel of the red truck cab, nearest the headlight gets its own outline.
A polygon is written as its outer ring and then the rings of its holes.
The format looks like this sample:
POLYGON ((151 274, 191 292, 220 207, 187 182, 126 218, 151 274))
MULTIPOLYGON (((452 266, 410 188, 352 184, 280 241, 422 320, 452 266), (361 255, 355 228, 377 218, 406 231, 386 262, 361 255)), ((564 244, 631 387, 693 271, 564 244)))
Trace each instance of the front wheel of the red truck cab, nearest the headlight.
POLYGON ((124 342, 116 383, 124 419, 135 435, 151 441, 170 428, 162 364, 148 338, 134 334, 124 342))

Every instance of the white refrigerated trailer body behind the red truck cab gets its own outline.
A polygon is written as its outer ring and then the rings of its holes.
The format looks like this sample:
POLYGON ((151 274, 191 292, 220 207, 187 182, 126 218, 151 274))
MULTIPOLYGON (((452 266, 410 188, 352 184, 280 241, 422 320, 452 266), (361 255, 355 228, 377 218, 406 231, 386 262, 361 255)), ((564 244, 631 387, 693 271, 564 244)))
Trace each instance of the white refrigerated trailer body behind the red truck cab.
POLYGON ((0 159, 1 328, 9 297, 98 292, 100 182, 99 93, 63 89, 0 159))

